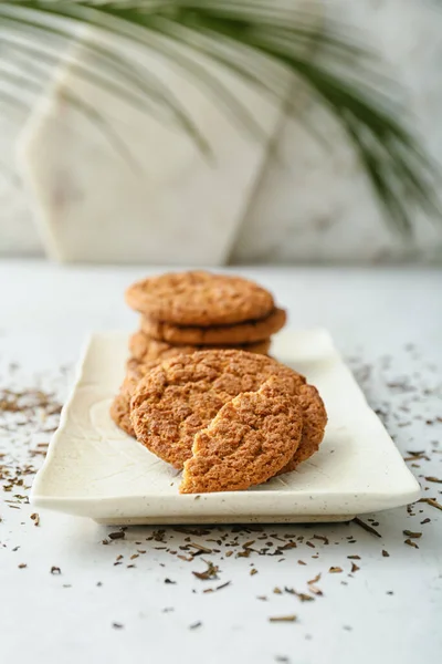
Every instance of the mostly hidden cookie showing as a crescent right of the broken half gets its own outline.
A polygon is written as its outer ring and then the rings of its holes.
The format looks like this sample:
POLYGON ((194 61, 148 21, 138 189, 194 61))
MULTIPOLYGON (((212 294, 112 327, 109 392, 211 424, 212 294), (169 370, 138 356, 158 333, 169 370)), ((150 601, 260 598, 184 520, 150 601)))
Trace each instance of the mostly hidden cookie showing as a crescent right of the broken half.
POLYGON ((303 437, 293 459, 280 471, 290 473, 318 450, 327 424, 327 412, 318 391, 313 385, 301 385, 297 398, 303 409, 303 437))

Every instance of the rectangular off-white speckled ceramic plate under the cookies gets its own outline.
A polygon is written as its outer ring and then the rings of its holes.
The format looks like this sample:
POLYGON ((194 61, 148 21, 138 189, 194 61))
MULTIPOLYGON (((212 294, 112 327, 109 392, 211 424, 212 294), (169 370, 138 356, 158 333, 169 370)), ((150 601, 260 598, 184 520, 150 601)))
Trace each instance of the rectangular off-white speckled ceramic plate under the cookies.
POLYGON ((104 523, 340 521, 417 500, 420 488, 324 330, 283 332, 273 354, 325 401, 320 449, 292 474, 248 491, 180 496, 180 473, 117 428, 109 406, 127 334, 92 335, 31 501, 104 523))

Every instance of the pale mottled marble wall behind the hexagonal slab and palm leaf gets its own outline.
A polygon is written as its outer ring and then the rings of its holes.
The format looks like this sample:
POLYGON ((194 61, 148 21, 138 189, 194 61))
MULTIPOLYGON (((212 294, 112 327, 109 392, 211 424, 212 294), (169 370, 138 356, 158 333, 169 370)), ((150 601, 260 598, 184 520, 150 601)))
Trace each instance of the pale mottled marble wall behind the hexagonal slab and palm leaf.
MULTIPOLYGON (((442 163, 442 3, 438 0, 329 0, 335 20, 358 31, 404 86, 407 103, 430 153, 442 163), (439 9, 438 9, 439 4, 439 9)), ((1 46, 4 53, 4 45, 1 46)), ((316 113, 311 108, 311 113, 316 113)), ((12 168, 20 133, 0 120, 0 255, 43 252, 34 210, 12 168)), ((234 262, 439 261, 442 224, 417 219, 410 246, 381 220, 351 154, 330 135, 329 153, 295 123, 280 127, 282 159, 267 163, 238 228, 234 262)))

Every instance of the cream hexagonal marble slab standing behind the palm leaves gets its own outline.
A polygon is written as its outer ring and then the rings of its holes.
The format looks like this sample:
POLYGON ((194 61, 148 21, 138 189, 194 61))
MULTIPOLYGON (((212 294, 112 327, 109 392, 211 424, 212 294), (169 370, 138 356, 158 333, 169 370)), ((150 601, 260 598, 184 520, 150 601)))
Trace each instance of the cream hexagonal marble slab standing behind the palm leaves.
MULTIPOLYGON (((82 65, 91 63, 88 39, 94 34, 84 35, 71 54, 82 65)), ((164 110, 157 118, 63 64, 19 147, 46 252, 59 261, 223 263, 281 120, 281 104, 212 62, 194 60, 225 87, 222 97, 234 96, 256 120, 262 128, 256 138, 210 86, 156 52, 131 55, 180 101, 213 155, 199 152, 164 110), (66 101, 66 92, 85 100, 114 135, 66 101)))

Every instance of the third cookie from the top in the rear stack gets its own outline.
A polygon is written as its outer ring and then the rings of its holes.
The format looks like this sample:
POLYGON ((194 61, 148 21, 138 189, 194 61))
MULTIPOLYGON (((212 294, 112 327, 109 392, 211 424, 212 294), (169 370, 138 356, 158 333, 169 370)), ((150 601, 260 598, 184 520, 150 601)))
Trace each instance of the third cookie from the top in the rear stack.
MULTIPOLYGON (((243 344, 241 350, 248 351, 249 353, 261 353, 262 355, 265 355, 269 352, 270 346, 270 339, 265 339, 264 341, 257 341, 256 343, 243 344)), ((180 353, 194 353, 196 351, 206 350, 206 347, 207 346, 173 345, 166 341, 151 339, 144 332, 135 332, 129 339, 129 351, 131 356, 137 362, 143 362, 144 364, 150 364, 152 362, 158 364, 173 355, 179 355, 180 353)))

